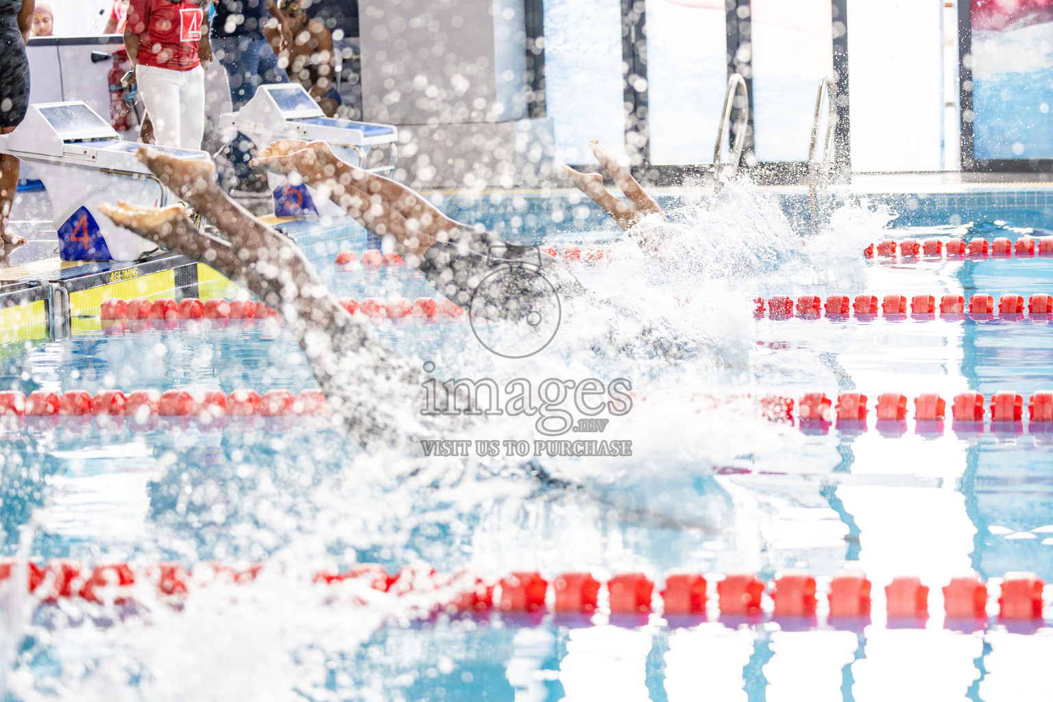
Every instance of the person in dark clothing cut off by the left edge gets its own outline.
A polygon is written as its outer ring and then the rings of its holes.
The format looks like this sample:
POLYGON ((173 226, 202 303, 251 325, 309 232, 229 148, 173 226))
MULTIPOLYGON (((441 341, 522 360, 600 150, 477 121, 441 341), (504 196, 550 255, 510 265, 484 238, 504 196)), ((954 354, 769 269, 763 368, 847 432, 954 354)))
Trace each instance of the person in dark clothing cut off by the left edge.
MULTIPOLYGON (((0 0, 0 134, 11 134, 29 108, 29 62, 25 42, 33 23, 34 0, 0 0)), ((0 261, 8 264, 12 250, 25 243, 7 232, 11 206, 18 189, 20 162, 11 154, 0 158, 0 261)))

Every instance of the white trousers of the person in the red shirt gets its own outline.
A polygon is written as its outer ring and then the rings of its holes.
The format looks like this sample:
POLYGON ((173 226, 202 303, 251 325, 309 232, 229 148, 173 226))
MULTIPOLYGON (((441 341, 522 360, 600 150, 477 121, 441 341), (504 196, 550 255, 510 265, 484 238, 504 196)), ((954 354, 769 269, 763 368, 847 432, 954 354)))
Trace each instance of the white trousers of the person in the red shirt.
POLYGON ((158 146, 201 148, 204 137, 204 71, 171 71, 139 64, 139 95, 154 123, 158 146))

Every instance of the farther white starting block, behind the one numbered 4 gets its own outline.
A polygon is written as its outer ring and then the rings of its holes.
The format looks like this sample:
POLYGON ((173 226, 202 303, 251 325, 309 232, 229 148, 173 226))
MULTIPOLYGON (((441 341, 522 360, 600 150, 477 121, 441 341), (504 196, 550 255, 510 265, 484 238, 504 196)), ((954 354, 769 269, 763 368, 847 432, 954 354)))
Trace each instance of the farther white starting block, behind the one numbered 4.
MULTIPOLYGON (((395 142, 398 140, 395 126, 325 117, 299 83, 260 85, 244 107, 223 118, 224 127, 244 134, 257 148, 280 139, 324 141, 339 158, 363 167, 373 146, 391 144, 388 163, 369 171, 395 169, 395 142)), ((267 184, 274 192, 274 213, 278 217, 346 215, 329 198, 320 197, 314 188, 302 183, 293 185, 284 175, 267 173, 267 184)))

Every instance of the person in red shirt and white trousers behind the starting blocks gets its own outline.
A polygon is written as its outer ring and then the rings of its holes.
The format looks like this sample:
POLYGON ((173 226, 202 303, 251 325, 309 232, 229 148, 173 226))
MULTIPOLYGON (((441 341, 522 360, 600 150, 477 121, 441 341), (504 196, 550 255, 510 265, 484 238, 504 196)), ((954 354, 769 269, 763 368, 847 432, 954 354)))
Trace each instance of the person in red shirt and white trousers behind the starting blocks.
POLYGON ((155 143, 201 148, 208 0, 131 0, 124 48, 154 124, 155 143))

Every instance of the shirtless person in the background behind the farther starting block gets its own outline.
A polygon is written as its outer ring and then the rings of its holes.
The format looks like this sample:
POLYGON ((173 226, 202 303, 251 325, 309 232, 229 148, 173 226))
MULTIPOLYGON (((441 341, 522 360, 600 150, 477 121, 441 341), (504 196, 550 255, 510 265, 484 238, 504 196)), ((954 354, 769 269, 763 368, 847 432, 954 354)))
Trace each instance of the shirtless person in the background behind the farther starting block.
POLYGON ((321 21, 309 19, 301 0, 280 0, 278 7, 289 19, 293 41, 281 49, 281 34, 277 26, 267 25, 263 35, 271 47, 285 57, 285 72, 303 87, 327 116, 336 115, 340 93, 336 89, 336 55, 333 34, 321 21))

